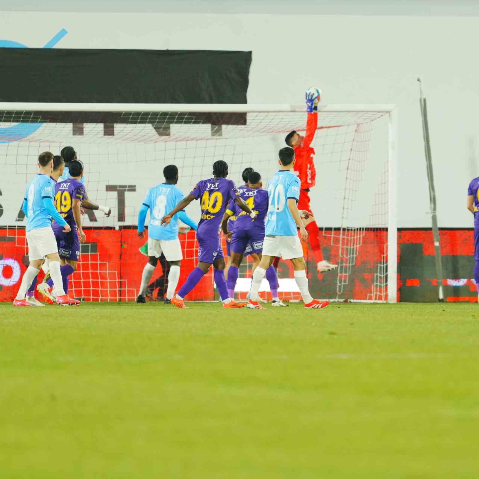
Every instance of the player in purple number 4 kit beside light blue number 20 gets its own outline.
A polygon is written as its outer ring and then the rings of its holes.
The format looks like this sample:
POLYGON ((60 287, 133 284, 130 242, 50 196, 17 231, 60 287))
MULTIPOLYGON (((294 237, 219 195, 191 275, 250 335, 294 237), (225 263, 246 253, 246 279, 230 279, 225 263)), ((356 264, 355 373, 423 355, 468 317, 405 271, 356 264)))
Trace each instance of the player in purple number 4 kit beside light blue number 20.
MULTIPOLYGON (((253 264, 253 273, 259 262, 263 251, 264 240, 264 218, 268 211, 268 192, 262 189, 261 175, 257 171, 253 171, 248 176, 248 188, 240 190, 240 196, 246 204, 256 213, 257 220, 252 222, 251 218, 240 211, 237 205, 228 205, 228 209, 223 217, 221 227, 228 238, 231 238, 231 267, 228 276, 228 293, 230 297, 234 297, 236 282, 238 280, 239 265, 243 260, 244 253, 249 245, 251 245, 251 256, 258 259, 253 264), (230 208, 234 208, 231 210, 230 208), (236 215, 234 231, 228 230, 228 217, 236 215)), ((278 276, 274 266, 271 265, 266 270, 266 279, 269 282, 271 295, 273 297, 272 306, 287 306, 278 297, 278 276)))

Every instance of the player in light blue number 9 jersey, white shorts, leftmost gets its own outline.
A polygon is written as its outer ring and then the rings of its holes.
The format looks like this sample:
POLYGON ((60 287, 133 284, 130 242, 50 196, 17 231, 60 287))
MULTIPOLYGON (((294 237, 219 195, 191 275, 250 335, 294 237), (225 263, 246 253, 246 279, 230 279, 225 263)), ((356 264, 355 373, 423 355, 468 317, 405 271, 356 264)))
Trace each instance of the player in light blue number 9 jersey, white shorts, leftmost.
POLYGON ((51 226, 53 218, 63 227, 64 232, 71 229, 53 204, 55 186, 50 178, 53 170, 53 154, 49 151, 41 153, 38 157, 38 166, 40 173, 28 184, 22 208, 27 217, 26 239, 30 264, 23 274, 13 305, 31 306, 25 300, 25 294, 38 274, 43 259, 47 258, 50 261, 50 274, 58 292, 57 304, 78 306, 80 301, 70 298, 63 290, 57 241, 51 226))

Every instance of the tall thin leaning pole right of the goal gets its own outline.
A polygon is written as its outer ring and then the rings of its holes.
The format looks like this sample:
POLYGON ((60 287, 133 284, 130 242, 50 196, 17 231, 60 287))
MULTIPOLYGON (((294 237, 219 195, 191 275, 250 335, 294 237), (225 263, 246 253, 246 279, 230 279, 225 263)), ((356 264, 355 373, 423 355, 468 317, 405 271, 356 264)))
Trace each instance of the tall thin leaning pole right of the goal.
POLYGON ((444 301, 443 294, 443 264, 441 261, 441 245, 439 237, 439 228, 437 226, 437 206, 436 191, 434 189, 433 162, 431 158, 431 143, 429 140, 429 124, 427 121, 427 104, 422 90, 422 79, 418 78, 420 91, 420 104, 422 116, 422 136, 424 139, 424 154, 426 156, 427 181, 429 183, 429 204, 431 207, 431 219, 433 223, 433 239, 434 239, 434 261, 436 264, 436 276, 438 285, 438 299, 444 301))

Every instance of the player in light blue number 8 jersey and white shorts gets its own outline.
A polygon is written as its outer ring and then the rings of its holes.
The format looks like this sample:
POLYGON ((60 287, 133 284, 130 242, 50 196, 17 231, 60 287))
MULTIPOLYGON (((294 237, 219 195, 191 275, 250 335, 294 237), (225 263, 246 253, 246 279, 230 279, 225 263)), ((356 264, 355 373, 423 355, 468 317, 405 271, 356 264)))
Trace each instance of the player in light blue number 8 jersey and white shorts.
POLYGON ((145 219, 148 209, 150 210, 150 220, 148 223, 148 263, 143 268, 137 303, 145 303, 148 283, 162 252, 166 260, 170 263, 168 289, 165 300, 165 303, 170 303, 180 279, 180 262, 183 259, 180 239, 178 238, 178 219, 181 219, 183 223, 195 231, 198 227, 184 210, 173 217, 168 226, 161 226, 161 218, 178 205, 184 197, 181 190, 175 186, 178 182, 178 168, 175 165, 165 166, 163 176, 165 177, 165 182, 150 188, 138 214, 138 238, 141 239, 145 237, 145 219))

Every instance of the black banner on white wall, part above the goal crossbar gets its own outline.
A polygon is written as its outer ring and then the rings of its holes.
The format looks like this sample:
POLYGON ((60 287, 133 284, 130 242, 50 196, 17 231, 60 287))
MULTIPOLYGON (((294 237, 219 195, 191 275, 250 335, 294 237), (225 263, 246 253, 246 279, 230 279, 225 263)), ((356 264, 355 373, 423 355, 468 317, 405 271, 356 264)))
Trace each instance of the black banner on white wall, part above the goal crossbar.
POLYGON ((0 48, 0 102, 247 103, 251 52, 0 48))

